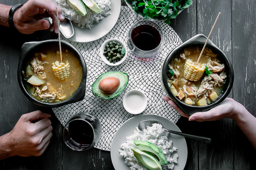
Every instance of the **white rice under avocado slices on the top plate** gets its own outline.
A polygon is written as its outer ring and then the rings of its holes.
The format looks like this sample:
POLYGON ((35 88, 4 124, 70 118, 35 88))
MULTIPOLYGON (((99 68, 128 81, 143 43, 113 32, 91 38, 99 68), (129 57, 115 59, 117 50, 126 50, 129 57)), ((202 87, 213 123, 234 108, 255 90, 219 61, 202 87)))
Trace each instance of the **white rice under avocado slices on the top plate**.
POLYGON ((63 15, 65 17, 68 17, 70 21, 78 23, 78 26, 81 28, 87 27, 91 29, 91 27, 94 26, 94 22, 98 23, 99 20, 101 20, 103 17, 106 17, 111 14, 110 0, 95 0, 98 6, 102 9, 102 11, 99 14, 93 12, 90 8, 88 8, 85 5, 87 12, 85 16, 76 13, 75 10, 73 10, 71 6, 68 3, 66 3, 66 0, 57 0, 57 2, 59 4, 60 9, 62 10, 63 15))

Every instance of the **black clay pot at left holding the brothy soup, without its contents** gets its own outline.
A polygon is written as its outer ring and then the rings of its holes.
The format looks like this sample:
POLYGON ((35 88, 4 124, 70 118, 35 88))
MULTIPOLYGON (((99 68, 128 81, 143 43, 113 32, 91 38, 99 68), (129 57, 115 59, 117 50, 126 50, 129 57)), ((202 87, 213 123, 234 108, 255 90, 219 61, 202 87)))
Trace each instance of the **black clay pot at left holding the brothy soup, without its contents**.
POLYGON ((21 53, 20 53, 20 62, 18 64, 18 83, 21 87, 22 92, 25 94, 25 96, 31 100, 33 103, 37 104, 38 106, 43 107, 60 107, 65 104, 75 103, 78 101, 81 101, 84 99, 85 96, 85 87, 86 87, 86 79, 87 79, 87 66, 84 61, 84 58, 82 57, 81 53, 71 44, 69 44, 66 41, 61 40, 62 46, 65 46, 66 49, 69 49, 73 51, 77 57, 79 58, 79 61, 82 65, 82 80, 81 83, 76 90, 76 92, 69 97, 68 99, 59 102, 59 103, 45 103, 36 100, 30 92, 28 92, 25 84, 27 83, 26 80, 24 80, 24 75, 22 74, 23 70, 26 70, 26 64, 30 60, 31 56, 37 51, 40 50, 45 45, 52 45, 52 44, 59 44, 59 40, 46 40, 46 41, 35 41, 35 42, 26 42, 21 47, 21 53))

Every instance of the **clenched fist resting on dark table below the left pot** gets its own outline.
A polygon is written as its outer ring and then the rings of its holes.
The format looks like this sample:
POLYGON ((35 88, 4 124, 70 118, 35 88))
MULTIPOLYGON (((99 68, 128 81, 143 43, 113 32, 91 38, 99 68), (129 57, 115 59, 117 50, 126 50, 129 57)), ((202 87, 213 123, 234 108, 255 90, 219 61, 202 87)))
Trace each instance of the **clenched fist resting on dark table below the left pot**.
POLYGON ((23 114, 14 129, 5 136, 5 141, 8 141, 7 145, 11 150, 10 156, 42 155, 52 138, 52 123, 48 119, 50 117, 50 114, 41 111, 23 114))

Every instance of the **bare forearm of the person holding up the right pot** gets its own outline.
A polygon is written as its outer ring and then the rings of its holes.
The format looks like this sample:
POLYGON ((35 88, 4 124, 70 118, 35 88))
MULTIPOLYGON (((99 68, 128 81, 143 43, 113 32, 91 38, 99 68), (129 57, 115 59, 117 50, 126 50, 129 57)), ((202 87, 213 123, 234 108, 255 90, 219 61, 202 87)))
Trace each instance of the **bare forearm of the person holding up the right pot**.
POLYGON ((242 106, 236 109, 233 119, 256 149, 256 118, 242 106))

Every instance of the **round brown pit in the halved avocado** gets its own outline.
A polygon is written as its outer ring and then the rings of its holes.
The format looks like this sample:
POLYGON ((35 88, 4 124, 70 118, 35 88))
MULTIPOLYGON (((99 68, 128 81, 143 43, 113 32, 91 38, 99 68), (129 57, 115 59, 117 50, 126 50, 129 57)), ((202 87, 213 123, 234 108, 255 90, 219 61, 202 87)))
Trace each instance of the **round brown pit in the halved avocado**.
POLYGON ((102 79, 99 84, 99 88, 102 93, 106 95, 113 94, 120 85, 120 80, 116 77, 107 77, 102 79))

